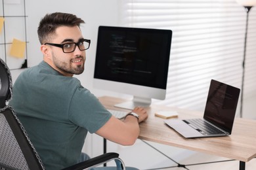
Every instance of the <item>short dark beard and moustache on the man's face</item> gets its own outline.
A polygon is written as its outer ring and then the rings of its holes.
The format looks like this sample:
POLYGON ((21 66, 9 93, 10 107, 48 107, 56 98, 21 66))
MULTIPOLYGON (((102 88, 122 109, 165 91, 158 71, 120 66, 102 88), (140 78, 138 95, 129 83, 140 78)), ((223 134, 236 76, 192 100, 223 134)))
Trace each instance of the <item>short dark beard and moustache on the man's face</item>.
POLYGON ((83 56, 77 56, 74 59, 71 59, 70 63, 66 63, 64 61, 59 61, 58 59, 56 59, 53 54, 53 63, 58 69, 60 69, 63 72, 72 74, 72 75, 80 75, 81 73, 83 73, 83 71, 85 69, 85 59, 83 58, 83 56), (82 64, 75 65, 72 67, 72 60, 74 60, 74 59, 81 59, 82 64))

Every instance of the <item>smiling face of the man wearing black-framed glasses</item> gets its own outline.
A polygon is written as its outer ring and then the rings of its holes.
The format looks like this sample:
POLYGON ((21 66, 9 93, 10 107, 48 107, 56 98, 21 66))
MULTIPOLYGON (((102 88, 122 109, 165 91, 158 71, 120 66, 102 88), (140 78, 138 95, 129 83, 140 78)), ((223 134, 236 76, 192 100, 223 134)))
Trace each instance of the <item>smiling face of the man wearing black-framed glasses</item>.
MULTIPOLYGON (((61 26, 56 29, 51 43, 64 44, 68 42, 79 42, 83 39, 79 27, 61 26)), ((74 52, 64 53, 62 48, 45 45, 49 50, 49 56, 44 60, 56 71, 64 76, 73 76, 83 73, 85 65, 85 50, 75 47, 74 52)))

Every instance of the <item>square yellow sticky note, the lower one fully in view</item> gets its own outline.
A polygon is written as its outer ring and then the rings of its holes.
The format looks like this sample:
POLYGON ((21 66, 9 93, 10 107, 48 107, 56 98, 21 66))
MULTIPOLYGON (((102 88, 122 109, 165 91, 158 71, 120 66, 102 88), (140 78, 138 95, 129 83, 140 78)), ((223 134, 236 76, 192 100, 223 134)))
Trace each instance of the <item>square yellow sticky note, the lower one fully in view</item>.
POLYGON ((24 58, 25 50, 26 42, 13 39, 10 56, 14 56, 16 58, 24 58))

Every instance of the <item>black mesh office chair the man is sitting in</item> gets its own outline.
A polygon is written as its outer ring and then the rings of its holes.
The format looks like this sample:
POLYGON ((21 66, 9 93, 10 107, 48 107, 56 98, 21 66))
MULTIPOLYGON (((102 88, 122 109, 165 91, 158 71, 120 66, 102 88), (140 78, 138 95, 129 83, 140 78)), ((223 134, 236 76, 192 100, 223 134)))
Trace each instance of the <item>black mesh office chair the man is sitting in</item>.
MULTIPOLYGON (((11 95, 11 73, 0 58, 0 169, 45 169, 22 123, 12 107, 6 105, 11 95)), ((117 169, 125 169, 118 156, 114 152, 102 154, 64 170, 91 169, 112 160, 116 161, 117 169)))

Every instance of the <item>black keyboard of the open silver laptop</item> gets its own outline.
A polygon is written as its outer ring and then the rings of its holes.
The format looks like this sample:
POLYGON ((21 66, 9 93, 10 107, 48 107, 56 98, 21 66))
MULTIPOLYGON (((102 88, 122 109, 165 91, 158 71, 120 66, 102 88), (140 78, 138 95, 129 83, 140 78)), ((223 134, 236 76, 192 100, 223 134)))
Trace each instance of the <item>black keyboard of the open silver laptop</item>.
POLYGON ((224 133, 223 131, 217 129, 214 126, 211 126, 211 124, 208 124, 202 119, 189 119, 189 120, 183 120, 188 124, 189 126, 193 127, 203 135, 215 135, 224 133))

